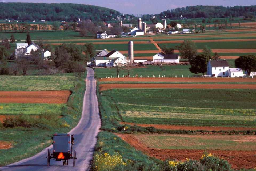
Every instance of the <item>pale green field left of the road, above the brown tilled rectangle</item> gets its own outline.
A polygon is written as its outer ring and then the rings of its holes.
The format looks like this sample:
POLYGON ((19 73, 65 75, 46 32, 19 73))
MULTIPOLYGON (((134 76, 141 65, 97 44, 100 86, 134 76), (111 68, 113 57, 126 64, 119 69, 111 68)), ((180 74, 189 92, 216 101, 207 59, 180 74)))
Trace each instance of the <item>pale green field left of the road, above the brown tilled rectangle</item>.
POLYGON ((73 76, 0 76, 0 91, 69 90, 73 76))

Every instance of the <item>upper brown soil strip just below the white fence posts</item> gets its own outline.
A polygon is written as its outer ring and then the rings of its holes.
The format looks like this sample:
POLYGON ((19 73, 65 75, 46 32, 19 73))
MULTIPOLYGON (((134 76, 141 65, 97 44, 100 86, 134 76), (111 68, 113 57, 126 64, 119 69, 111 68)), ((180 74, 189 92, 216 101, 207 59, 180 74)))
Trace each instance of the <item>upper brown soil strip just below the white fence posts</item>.
POLYGON ((98 81, 137 81, 137 82, 256 82, 256 79, 245 78, 103 78, 98 81))

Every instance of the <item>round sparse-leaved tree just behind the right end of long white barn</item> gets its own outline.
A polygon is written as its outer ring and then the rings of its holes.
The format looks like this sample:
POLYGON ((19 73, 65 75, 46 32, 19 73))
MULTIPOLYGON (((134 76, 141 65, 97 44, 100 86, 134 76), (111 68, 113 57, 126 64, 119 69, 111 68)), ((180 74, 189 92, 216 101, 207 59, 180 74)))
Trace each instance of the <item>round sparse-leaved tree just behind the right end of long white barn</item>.
POLYGON ((188 59, 189 61, 197 55, 197 46, 191 40, 184 40, 178 47, 179 53, 183 59, 188 59))

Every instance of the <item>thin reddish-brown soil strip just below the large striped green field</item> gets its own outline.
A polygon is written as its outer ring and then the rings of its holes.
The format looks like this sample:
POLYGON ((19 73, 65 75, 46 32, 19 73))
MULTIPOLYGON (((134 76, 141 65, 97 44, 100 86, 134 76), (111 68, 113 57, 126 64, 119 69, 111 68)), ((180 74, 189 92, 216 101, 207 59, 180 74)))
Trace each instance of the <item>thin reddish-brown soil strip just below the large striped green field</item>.
POLYGON ((206 130, 206 131, 229 131, 229 130, 256 130, 256 128, 246 127, 206 127, 206 126, 184 126, 184 125, 159 125, 159 124, 135 124, 129 122, 119 122, 120 124, 137 125, 141 127, 154 127, 164 130, 206 130))

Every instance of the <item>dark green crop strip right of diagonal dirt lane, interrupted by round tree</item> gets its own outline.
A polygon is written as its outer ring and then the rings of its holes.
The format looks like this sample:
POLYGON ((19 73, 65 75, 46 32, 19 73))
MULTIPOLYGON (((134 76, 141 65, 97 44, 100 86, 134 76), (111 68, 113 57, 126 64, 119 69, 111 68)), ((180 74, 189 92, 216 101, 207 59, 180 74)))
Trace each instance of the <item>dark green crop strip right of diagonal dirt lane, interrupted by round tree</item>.
MULTIPOLYGON (((181 43, 158 43, 159 47, 162 48, 166 45, 170 48, 175 48, 181 43)), ((241 42, 199 42, 195 43, 197 49, 203 49, 205 45, 211 49, 254 49, 256 47, 256 41, 241 41, 241 42)), ((175 48, 177 49, 177 48, 175 48)))

